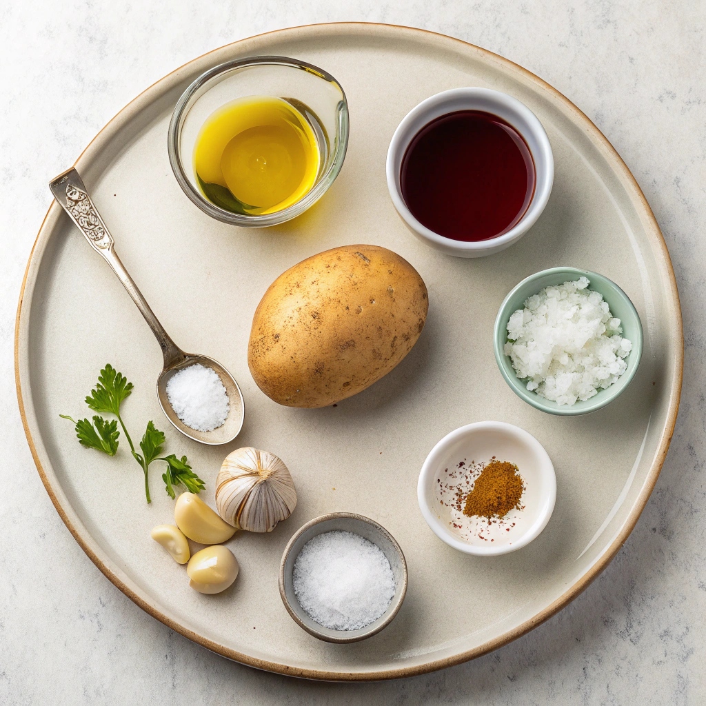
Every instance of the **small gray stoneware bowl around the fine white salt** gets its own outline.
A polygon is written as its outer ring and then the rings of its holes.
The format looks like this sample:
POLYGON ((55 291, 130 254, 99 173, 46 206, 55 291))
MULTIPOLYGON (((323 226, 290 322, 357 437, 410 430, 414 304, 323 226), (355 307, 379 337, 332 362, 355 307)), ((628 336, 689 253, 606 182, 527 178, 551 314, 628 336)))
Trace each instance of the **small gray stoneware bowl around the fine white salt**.
POLYGON ((371 637, 371 635, 379 633, 397 615, 397 611, 402 606, 402 601, 405 600, 406 592, 407 562, 405 561, 405 555, 402 554, 400 545, 395 542, 394 537, 384 527, 363 515, 329 513, 328 515, 315 517, 294 533, 292 539, 289 540, 289 544, 287 544, 285 553, 282 554, 282 563, 280 564, 280 596, 282 596, 282 602, 285 604, 287 611, 289 611, 289 615, 294 618, 294 622, 319 640, 326 640, 327 642, 358 642, 358 640, 364 640, 371 637), (331 630, 319 625, 304 612, 304 609, 299 605, 299 601, 297 601, 297 597, 294 595, 292 572, 294 570, 294 561, 297 561, 297 556, 299 556, 302 547, 306 542, 309 542, 309 539, 313 539, 318 534, 333 532, 334 530, 359 534, 360 537, 364 537, 369 542, 376 544, 390 562, 395 577, 395 597, 390 602, 388 609, 376 621, 370 623, 369 626, 360 628, 360 630, 331 630))

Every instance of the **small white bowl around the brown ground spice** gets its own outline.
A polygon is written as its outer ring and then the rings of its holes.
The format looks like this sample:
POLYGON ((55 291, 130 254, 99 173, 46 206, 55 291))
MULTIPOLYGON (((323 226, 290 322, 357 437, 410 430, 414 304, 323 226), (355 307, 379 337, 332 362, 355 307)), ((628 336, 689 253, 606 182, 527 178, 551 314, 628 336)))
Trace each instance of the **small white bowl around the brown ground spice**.
POLYGON ((554 465, 542 444, 519 426, 478 421, 455 429, 434 446, 421 467, 417 499, 434 534, 454 549, 477 556, 509 554, 536 539, 549 522, 556 501, 554 465), (467 488, 460 477, 469 465, 487 463, 493 456, 517 466, 525 491, 521 510, 489 525, 446 503, 454 494, 449 486, 467 488))

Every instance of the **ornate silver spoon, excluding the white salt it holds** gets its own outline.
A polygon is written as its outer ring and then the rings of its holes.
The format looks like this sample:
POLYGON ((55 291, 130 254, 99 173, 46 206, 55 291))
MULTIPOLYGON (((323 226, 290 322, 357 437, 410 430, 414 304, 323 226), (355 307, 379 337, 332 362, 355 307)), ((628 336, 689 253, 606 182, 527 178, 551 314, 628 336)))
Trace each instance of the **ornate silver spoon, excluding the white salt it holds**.
POLYGON ((243 426, 245 414, 245 405, 243 395, 238 387, 235 378, 217 361, 212 358, 207 358, 204 355, 196 355, 192 353, 184 353, 174 341, 167 335, 167 332, 162 328, 162 324, 157 321, 155 313, 150 309, 150 305, 145 301, 145 297, 133 282, 127 270, 121 263, 120 258, 116 255, 113 248, 113 238, 109 234, 103 219, 100 217, 93 201, 88 195, 88 191, 83 185, 80 176, 76 169, 68 169, 64 174, 59 174, 56 179, 49 182, 49 188, 52 189, 54 198, 59 201, 62 208, 71 216, 71 220, 78 226, 92 248, 102 255, 103 259, 110 265, 113 272, 118 276, 118 279, 123 283, 128 294, 133 298, 137 308, 145 317, 148 325, 155 334, 155 338, 162 348, 164 356, 164 367, 160 376, 157 378, 157 399, 160 400, 160 406, 164 415, 172 422, 176 429, 179 429, 184 436, 188 436, 194 441, 201 441, 212 445, 228 443, 232 441, 243 426), (198 431, 186 426, 177 413, 174 412, 172 405, 169 404, 167 398, 167 382, 174 373, 191 365, 199 363, 207 368, 215 371, 221 382, 225 386, 228 393, 230 404, 230 412, 225 422, 213 429, 213 431, 198 431))

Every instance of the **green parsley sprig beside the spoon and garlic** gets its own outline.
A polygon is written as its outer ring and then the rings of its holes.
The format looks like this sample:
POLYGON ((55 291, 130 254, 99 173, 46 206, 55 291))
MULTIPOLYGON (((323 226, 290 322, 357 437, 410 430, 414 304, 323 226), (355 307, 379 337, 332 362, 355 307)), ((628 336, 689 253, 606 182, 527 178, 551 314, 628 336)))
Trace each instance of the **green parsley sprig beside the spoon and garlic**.
POLYGON ((153 421, 148 421, 147 429, 140 441, 140 451, 138 453, 135 445, 130 438, 130 434, 126 429, 125 423, 120 416, 120 405, 126 397, 129 397, 133 390, 133 384, 127 381, 127 378, 114 369, 110 364, 107 364, 98 376, 98 382, 95 388, 91 390, 90 395, 86 397, 85 402, 94 412, 93 421, 88 419, 79 419, 78 421, 71 419, 66 414, 60 414, 60 417, 69 419, 76 426, 76 437, 78 443, 85 448, 95 448, 102 453, 107 453, 109 456, 114 456, 118 450, 118 424, 120 424, 125 438, 130 445, 130 453, 138 462, 145 474, 145 496, 148 503, 150 500, 150 481, 148 477, 148 468, 152 461, 164 461, 167 464, 167 472, 162 474, 165 491, 170 498, 174 498, 174 487, 184 486, 184 489, 190 493, 198 493, 205 487, 201 478, 191 470, 189 460, 186 456, 181 459, 177 458, 173 453, 168 456, 160 456, 162 446, 166 442, 164 433, 155 428, 153 421), (108 421, 100 414, 114 414, 117 419, 108 421))

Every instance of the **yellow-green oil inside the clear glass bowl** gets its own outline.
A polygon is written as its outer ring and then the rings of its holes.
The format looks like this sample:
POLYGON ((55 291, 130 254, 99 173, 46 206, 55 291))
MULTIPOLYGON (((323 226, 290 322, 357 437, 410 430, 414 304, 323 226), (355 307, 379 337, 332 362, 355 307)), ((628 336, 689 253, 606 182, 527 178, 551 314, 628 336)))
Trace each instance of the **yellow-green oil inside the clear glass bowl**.
POLYGON ((270 96, 233 100, 201 127, 193 152, 199 186, 220 208, 275 213, 306 195, 316 181, 316 136, 292 104, 270 96))

